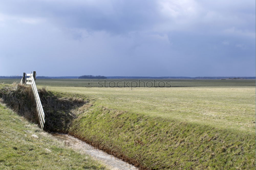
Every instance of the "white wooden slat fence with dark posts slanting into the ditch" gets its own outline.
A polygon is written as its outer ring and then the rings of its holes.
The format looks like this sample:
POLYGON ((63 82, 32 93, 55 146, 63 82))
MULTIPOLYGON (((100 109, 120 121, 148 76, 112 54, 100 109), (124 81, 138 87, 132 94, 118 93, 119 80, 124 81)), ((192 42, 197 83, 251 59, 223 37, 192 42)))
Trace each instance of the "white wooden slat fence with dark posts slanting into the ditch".
POLYGON ((45 113, 44 109, 36 88, 36 71, 31 72, 31 74, 26 74, 25 72, 23 73, 23 77, 20 81, 20 84, 26 84, 26 85, 31 85, 32 91, 34 93, 35 99, 36 99, 36 108, 37 108, 37 113, 38 113, 38 118, 40 122, 40 126, 43 129, 44 128, 44 123, 45 123, 45 113))

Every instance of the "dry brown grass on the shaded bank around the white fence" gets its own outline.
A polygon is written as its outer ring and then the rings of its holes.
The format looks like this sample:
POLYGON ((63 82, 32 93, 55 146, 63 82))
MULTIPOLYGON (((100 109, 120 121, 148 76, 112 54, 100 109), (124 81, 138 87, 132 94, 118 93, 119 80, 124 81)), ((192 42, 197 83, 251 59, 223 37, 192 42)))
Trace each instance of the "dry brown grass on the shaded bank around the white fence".
MULTIPOLYGON (((41 103, 45 112, 46 131, 67 132, 73 118, 79 111, 78 107, 87 103, 77 97, 61 97, 39 89, 41 103)), ((3 103, 12 108, 20 116, 25 117, 30 122, 38 122, 36 102, 30 86, 17 83, 0 86, 0 98, 3 103)))

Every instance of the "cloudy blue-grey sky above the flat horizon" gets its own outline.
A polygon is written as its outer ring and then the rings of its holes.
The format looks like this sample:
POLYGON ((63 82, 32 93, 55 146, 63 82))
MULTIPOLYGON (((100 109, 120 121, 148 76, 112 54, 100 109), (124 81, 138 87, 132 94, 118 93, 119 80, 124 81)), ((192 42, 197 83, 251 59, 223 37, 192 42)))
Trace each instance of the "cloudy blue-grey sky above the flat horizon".
POLYGON ((0 1, 0 76, 255 76, 255 6, 0 1))

